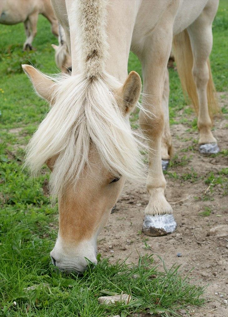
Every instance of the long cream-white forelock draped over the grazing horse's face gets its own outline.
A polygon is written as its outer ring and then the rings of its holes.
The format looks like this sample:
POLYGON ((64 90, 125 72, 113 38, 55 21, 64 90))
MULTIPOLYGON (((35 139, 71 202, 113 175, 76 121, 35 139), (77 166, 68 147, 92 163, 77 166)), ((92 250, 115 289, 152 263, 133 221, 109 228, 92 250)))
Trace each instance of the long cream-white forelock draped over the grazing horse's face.
POLYGON ((104 76, 106 81, 81 75, 55 79, 55 104, 30 140, 25 161, 36 174, 56 158, 49 182, 53 198, 69 184, 76 188, 85 167, 90 166, 91 145, 99 155, 98 164, 112 175, 144 180, 140 141, 113 94, 120 83, 104 76))

